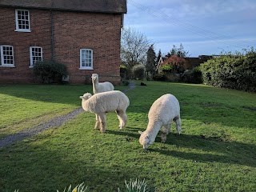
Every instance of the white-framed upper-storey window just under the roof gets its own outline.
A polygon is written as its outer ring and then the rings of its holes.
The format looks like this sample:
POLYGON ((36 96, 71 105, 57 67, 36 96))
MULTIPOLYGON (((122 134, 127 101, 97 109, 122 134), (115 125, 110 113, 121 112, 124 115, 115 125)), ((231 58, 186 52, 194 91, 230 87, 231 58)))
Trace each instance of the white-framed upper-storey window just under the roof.
POLYGON ((16 30, 30 32, 30 12, 28 10, 15 10, 16 30))

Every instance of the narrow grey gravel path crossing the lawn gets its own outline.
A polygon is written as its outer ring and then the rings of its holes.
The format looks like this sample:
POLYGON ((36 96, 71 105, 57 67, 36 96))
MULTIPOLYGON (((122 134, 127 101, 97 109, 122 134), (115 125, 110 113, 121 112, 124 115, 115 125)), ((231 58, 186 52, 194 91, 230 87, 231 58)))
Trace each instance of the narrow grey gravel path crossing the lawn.
MULTIPOLYGON (((126 90, 122 90, 123 93, 126 93, 129 90, 132 90, 135 88, 135 84, 133 82, 129 83, 129 88, 126 90)), ((53 118, 48 122, 44 122, 38 126, 34 126, 31 129, 28 130, 23 130, 17 134, 10 134, 6 138, 2 138, 0 140, 0 149, 5 146, 10 146, 14 142, 21 141, 25 138, 29 138, 31 136, 34 136, 35 134, 38 134, 42 132, 43 130, 49 129, 51 127, 56 127, 56 126, 62 126, 65 122, 70 121, 72 118, 75 118, 78 114, 82 113, 82 107, 73 110, 69 114, 64 114, 62 116, 59 116, 58 118, 53 118)))

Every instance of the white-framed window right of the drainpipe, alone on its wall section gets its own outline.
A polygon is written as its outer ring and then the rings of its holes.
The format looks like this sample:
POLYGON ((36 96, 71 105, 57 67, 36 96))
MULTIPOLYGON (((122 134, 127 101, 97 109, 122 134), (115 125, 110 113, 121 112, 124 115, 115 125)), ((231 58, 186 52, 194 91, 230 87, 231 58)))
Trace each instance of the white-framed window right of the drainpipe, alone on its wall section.
POLYGON ((94 70, 93 68, 93 50, 80 50, 80 70, 94 70))

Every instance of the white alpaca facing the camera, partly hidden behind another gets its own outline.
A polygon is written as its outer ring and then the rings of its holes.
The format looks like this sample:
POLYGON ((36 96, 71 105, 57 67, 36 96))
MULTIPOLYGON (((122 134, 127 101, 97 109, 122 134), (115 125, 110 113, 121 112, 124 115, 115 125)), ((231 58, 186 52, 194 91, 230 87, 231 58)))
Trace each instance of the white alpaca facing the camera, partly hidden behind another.
POLYGON ((93 82, 94 94, 114 90, 114 86, 111 82, 98 82, 98 74, 92 74, 91 80, 93 82))

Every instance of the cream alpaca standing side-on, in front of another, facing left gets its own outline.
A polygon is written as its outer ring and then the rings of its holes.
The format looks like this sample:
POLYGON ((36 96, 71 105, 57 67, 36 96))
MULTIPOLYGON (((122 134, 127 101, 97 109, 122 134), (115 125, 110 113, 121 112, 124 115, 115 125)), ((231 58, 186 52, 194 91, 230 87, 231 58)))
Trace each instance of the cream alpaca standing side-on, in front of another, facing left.
POLYGON ((80 98, 82 98, 82 109, 96 114, 95 130, 98 130, 100 125, 101 132, 106 131, 106 113, 110 111, 116 111, 120 130, 126 126, 126 109, 130 105, 126 94, 119 90, 111 90, 94 95, 86 93, 80 98))

